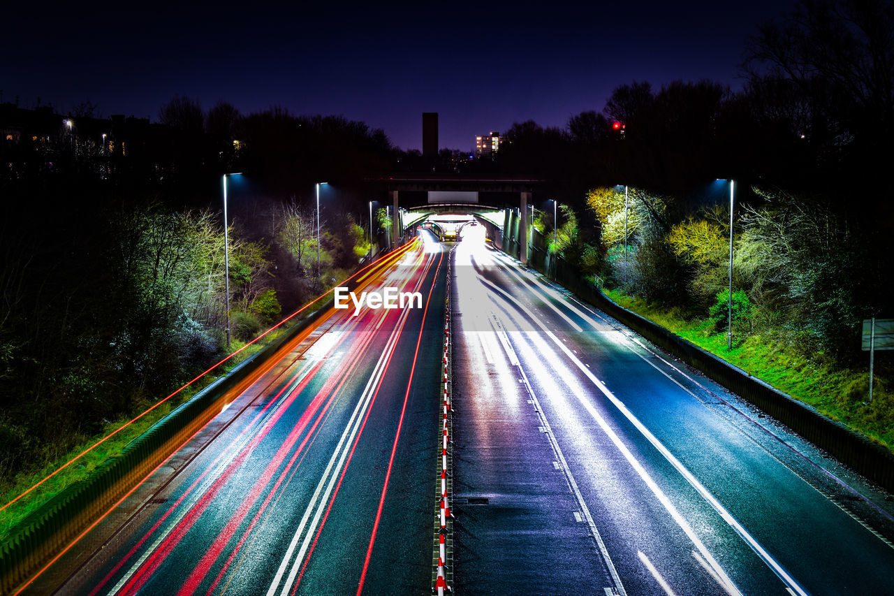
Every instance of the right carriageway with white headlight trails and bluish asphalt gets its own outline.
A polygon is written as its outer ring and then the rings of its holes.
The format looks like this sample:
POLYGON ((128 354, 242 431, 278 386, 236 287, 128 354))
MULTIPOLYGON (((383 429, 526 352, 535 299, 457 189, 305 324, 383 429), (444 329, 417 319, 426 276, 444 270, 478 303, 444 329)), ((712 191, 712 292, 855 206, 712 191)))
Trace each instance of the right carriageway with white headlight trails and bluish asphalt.
POLYGON ((858 478, 466 231, 457 592, 894 593, 891 517, 858 478))

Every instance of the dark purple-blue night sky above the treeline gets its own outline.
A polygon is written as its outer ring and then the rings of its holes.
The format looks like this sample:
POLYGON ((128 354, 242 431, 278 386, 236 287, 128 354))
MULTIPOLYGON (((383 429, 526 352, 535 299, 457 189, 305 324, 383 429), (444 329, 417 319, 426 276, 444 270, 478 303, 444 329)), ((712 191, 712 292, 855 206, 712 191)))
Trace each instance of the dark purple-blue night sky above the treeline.
POLYGON ((611 4, 266 3, 170 8, 80 4, 7 13, 3 101, 60 111, 149 116, 175 93, 243 114, 279 105, 343 115, 420 149, 422 112, 440 114, 440 146, 533 119, 563 126, 602 109, 630 81, 709 78, 738 89, 757 25, 794 0, 611 4))

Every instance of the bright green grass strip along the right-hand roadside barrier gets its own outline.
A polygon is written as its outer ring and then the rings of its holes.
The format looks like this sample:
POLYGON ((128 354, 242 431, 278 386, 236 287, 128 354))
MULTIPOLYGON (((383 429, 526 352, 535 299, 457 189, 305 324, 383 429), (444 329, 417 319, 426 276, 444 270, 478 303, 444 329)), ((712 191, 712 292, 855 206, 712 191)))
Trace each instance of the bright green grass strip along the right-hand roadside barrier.
POLYGON ((603 289, 603 293, 624 308, 814 406, 832 420, 843 422, 889 449, 894 446, 894 396, 888 379, 876 377, 873 402, 865 402, 869 392, 868 357, 865 369, 839 367, 798 353, 772 331, 746 336, 727 350, 726 333, 715 333, 711 320, 687 319, 679 311, 655 306, 618 290, 603 289))

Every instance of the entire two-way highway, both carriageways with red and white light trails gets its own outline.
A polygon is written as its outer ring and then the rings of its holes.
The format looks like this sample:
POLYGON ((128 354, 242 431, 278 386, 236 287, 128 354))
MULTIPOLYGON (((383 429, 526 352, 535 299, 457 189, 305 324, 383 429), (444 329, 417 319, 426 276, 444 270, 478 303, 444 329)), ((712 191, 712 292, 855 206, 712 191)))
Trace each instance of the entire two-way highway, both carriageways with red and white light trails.
POLYGON ((422 232, 30 583, 431 593, 448 263, 452 589, 894 594, 890 498, 485 243, 422 232))

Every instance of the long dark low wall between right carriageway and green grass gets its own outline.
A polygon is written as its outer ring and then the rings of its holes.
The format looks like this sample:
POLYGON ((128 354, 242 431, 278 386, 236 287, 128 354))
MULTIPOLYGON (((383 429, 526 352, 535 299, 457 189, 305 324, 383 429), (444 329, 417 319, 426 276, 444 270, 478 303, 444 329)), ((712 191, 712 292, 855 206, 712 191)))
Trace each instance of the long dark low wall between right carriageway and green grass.
POLYGON ((894 491, 894 454, 887 447, 857 434, 839 421, 782 393, 761 379, 704 351, 649 319, 611 301, 595 284, 537 248, 530 251, 529 265, 578 294, 586 302, 618 319, 663 350, 672 353, 705 375, 770 414, 815 446, 836 457, 885 490, 894 491))

